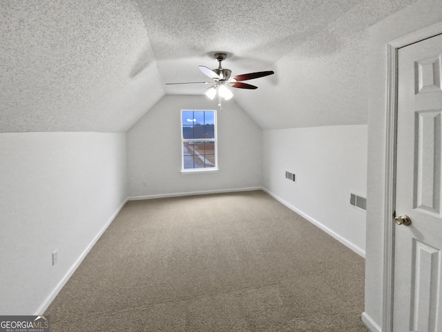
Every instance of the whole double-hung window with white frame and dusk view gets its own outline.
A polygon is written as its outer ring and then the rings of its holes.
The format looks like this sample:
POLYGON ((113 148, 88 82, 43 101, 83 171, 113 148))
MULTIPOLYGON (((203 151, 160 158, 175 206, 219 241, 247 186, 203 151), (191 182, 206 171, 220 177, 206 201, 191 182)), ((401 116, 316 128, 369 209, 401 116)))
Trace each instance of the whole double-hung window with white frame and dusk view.
POLYGON ((182 172, 218 169, 216 111, 181 111, 182 172))

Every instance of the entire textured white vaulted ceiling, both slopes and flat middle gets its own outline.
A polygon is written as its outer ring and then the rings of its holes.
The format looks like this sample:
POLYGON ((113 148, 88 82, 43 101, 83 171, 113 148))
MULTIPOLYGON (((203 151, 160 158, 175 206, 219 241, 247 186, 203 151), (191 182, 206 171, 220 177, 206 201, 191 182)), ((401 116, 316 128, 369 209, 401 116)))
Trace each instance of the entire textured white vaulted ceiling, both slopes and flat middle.
MULTIPOLYGON (((414 0, 2 0, 0 132, 127 131, 228 54, 262 128, 363 124, 366 28, 414 0)), ((185 107, 185 105, 183 105, 185 107)), ((216 107, 216 102, 214 102, 216 107)))

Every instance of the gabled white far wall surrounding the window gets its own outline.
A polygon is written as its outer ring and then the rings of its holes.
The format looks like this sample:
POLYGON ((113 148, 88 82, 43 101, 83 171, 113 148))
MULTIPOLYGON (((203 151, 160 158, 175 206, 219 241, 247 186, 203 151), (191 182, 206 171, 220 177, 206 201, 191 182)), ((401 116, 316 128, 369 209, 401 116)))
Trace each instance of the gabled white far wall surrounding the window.
POLYGON ((261 129, 233 100, 223 102, 217 114, 219 172, 181 174, 182 109, 218 109, 218 102, 204 95, 166 95, 128 131, 129 196, 260 187, 261 129))

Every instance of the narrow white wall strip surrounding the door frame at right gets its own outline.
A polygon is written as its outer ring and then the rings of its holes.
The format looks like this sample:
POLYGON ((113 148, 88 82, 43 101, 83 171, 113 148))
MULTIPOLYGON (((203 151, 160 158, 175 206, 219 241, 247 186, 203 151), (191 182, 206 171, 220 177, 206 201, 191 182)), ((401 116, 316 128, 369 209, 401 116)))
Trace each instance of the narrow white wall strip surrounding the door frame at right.
POLYGON ((377 330, 382 325, 387 43, 441 20, 441 1, 424 0, 417 1, 369 29, 365 315, 377 325, 377 330))

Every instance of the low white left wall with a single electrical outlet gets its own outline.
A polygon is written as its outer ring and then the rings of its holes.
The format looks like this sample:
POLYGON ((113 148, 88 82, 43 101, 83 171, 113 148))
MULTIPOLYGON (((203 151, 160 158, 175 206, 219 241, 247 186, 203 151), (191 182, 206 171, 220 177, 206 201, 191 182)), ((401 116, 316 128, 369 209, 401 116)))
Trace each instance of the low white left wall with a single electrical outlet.
POLYGON ((44 311, 126 186, 124 133, 0 133, 0 315, 44 311))

